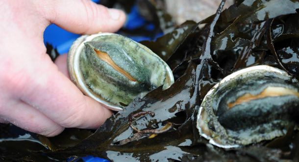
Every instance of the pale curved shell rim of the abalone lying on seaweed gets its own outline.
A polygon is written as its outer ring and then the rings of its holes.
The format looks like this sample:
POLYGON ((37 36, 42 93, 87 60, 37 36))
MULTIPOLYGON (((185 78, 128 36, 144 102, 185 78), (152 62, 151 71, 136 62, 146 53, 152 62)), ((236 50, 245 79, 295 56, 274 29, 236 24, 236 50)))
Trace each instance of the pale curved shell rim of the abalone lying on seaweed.
POLYGON ((202 100, 202 103, 199 107, 199 112, 198 112, 198 116, 197 116, 197 128, 199 130, 199 135, 201 135, 202 137, 206 138, 209 143, 215 145, 215 146, 218 146, 218 147, 221 147, 221 148, 226 148, 226 149, 229 149, 229 148, 236 148, 236 147, 241 147, 242 145, 239 145, 239 144, 221 144, 219 142, 217 142, 213 137, 207 135, 204 133, 204 131, 202 130, 202 128, 200 127, 200 125, 203 125, 201 124, 201 122, 203 122, 202 120, 202 116, 203 114, 205 113, 205 102, 207 101, 207 98, 209 98, 210 96, 213 95, 213 93, 216 91, 216 89, 219 87, 220 84, 223 84, 225 83, 226 81, 229 81, 233 78, 237 78, 243 74, 248 74, 248 73, 254 73, 254 72, 258 72, 258 71, 270 71, 270 72, 276 72, 280 75, 285 75, 285 76, 289 76, 285 71, 283 70, 280 70, 280 69, 277 69, 277 68, 274 68, 272 66, 268 66, 268 65, 257 65, 257 66, 252 66, 252 67, 248 67, 248 68, 245 68, 245 69, 242 69, 242 70, 239 70, 237 72, 234 72, 226 77, 224 77, 224 79, 220 82, 218 82, 217 84, 215 84, 208 92, 207 94, 204 96, 203 100, 202 100), (202 120, 202 121, 201 121, 202 120))

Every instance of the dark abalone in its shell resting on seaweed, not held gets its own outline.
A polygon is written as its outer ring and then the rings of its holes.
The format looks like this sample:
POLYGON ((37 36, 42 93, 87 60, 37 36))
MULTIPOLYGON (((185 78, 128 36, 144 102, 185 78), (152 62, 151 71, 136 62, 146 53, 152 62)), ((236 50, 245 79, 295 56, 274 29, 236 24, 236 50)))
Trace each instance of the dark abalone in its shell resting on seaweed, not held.
POLYGON ((299 83, 286 72, 259 65, 237 71, 204 97, 199 135, 223 147, 239 147, 285 135, 298 127, 299 83))

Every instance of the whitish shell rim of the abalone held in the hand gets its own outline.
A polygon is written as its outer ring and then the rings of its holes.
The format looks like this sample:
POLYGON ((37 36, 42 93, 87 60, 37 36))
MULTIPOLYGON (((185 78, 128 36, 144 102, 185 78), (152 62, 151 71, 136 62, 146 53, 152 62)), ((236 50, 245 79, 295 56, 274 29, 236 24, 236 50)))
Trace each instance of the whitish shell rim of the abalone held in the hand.
MULTIPOLYGON (((92 34, 92 35, 82 35, 79 37, 72 45, 69 56, 68 56, 68 70, 70 73, 70 77, 72 81, 77 85, 77 87, 87 96, 93 98, 94 100, 98 101, 100 104, 106 106, 106 108, 109 108, 111 110, 120 111, 123 110, 123 108, 119 107, 116 104, 110 103, 104 99, 102 99, 99 95, 92 92, 91 89, 88 88, 86 83, 84 82, 83 75, 80 72, 80 66, 79 66, 79 55, 81 50, 84 49, 84 43, 92 41, 94 38, 98 36, 104 36, 104 35, 118 35, 115 33, 109 33, 109 32, 99 32, 98 34, 92 34), (70 54, 74 53, 74 54, 70 54)), ((140 44, 136 42, 137 44, 140 44)), ((145 50, 149 50, 146 46, 143 48, 146 48, 145 50)), ((149 50, 150 51, 150 50, 149 50)), ((151 53, 149 53, 151 54, 151 53)), ((158 59, 162 60, 160 57, 158 59)), ((166 79, 167 81, 163 84, 163 90, 169 88, 174 83, 174 76, 172 74, 172 70, 169 68, 169 66, 162 60, 162 63, 166 67, 166 79)))

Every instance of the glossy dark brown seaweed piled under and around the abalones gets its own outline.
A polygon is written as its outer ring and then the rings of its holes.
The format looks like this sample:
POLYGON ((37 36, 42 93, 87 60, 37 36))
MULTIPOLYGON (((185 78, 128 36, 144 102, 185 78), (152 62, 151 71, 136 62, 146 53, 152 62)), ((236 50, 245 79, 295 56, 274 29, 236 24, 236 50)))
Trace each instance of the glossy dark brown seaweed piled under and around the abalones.
MULTIPOLYGON (((0 159, 65 161, 92 155, 129 162, 299 161, 299 132, 294 131, 294 125, 285 136, 232 149, 209 144, 196 128, 198 106, 207 91, 236 70, 263 64, 299 78, 299 0, 236 0, 223 11, 222 0, 215 15, 178 27, 158 5, 161 2, 138 0, 138 6, 150 13, 149 21, 155 24, 152 32, 167 33, 141 43, 173 70, 175 82, 169 89, 158 87, 142 99, 137 97, 95 132, 67 129, 48 138, 1 124, 0 159), (145 113, 149 111, 154 116, 145 113), (131 120, 138 113, 144 115, 131 120), (171 129, 155 136, 130 127, 161 130, 168 123, 172 123, 171 129)), ((133 5, 126 0, 101 3, 108 7, 118 4, 126 10, 133 5)), ((125 35, 134 31, 120 32, 125 35)))

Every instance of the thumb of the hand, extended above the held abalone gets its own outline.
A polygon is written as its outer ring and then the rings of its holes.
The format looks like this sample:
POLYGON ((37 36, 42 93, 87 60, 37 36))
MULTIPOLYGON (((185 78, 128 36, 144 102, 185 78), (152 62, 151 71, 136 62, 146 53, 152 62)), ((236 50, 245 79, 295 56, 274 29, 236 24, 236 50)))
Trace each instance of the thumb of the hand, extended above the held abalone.
POLYGON ((123 11, 91 0, 45 0, 44 3, 48 3, 42 4, 48 21, 78 34, 115 32, 125 23, 123 11))

